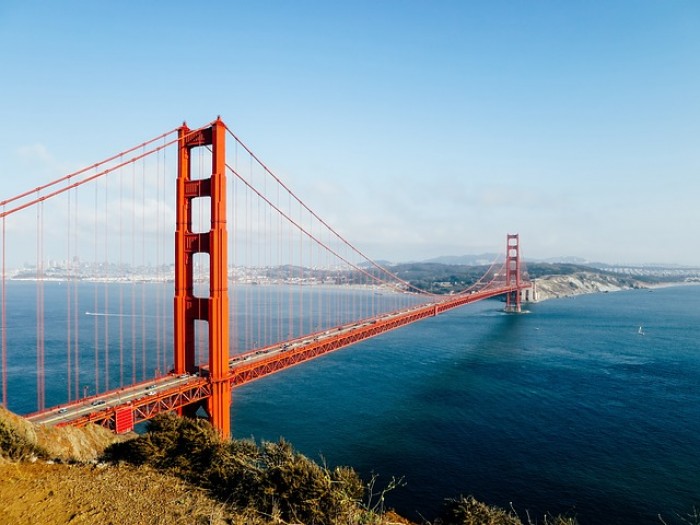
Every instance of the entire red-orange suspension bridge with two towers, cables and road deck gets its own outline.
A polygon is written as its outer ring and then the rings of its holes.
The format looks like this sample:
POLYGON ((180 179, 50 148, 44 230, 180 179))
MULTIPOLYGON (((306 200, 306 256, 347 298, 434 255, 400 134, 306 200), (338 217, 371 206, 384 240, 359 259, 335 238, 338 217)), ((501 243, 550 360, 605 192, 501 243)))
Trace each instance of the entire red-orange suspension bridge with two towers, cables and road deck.
POLYGON ((531 286, 517 235, 460 293, 411 285, 220 119, 0 208, 2 404, 44 424, 125 432, 175 411, 228 436, 232 388, 483 299, 519 312, 531 286))

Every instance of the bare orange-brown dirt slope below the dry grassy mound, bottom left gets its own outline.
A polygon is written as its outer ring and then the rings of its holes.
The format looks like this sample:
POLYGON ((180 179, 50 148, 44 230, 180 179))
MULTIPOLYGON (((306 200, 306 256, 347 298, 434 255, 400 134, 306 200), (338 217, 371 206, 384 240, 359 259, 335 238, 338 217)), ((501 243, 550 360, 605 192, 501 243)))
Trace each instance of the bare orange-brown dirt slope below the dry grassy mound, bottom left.
POLYGON ((2 463, 0 509, 2 525, 236 522, 203 491, 130 466, 2 463))

